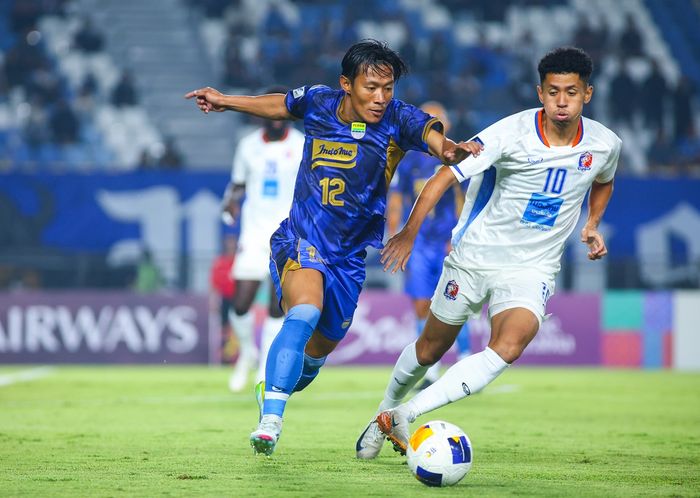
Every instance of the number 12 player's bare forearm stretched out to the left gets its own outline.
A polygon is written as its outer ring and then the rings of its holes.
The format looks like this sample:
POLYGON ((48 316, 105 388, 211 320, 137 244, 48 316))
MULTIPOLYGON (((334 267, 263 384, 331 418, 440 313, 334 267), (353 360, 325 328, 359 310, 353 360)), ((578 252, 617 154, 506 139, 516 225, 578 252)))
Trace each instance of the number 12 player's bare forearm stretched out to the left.
POLYGON ((284 104, 284 94, 267 95, 225 95, 220 91, 204 87, 185 94, 186 99, 195 99, 197 107, 208 114, 210 112, 236 111, 265 119, 294 119, 284 104))

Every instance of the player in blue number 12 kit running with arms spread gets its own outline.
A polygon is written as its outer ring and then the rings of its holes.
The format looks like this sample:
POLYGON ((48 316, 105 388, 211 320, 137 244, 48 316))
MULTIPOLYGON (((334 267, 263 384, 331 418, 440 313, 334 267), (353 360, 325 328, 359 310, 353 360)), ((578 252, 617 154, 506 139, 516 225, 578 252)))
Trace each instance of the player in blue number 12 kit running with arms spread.
POLYGON ((339 90, 312 85, 286 95, 238 96, 207 87, 185 95, 204 113, 304 120, 294 201, 270 239, 270 272, 285 320, 268 355, 258 429, 250 435, 255 453, 272 454, 289 396, 311 383, 352 323, 365 248, 382 247, 387 190, 404 151, 455 164, 481 150, 446 138, 437 118, 393 98, 406 70, 385 43, 364 40, 343 57, 339 90))

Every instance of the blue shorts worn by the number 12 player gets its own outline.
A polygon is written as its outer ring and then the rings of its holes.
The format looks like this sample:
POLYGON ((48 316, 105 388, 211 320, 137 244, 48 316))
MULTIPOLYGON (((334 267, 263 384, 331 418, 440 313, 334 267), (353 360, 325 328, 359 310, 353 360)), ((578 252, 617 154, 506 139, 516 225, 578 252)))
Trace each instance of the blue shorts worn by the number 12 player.
POLYGON ((289 228, 288 220, 272 234, 270 249, 270 275, 277 299, 282 300, 282 282, 288 271, 300 268, 320 271, 323 274, 323 310, 316 329, 332 341, 345 337, 365 281, 366 251, 328 264, 313 244, 289 228))

